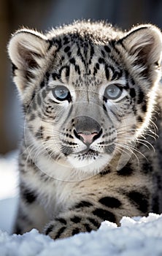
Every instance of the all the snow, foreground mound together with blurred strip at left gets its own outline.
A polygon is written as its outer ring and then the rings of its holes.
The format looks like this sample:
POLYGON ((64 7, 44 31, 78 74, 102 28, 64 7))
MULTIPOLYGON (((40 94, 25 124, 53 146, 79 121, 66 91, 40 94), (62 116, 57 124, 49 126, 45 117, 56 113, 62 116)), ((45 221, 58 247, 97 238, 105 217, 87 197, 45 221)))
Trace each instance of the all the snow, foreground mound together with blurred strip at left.
POLYGON ((10 235, 18 205, 17 153, 0 157, 1 256, 161 256, 162 214, 121 219, 121 226, 103 222, 97 231, 53 241, 33 229, 10 235))

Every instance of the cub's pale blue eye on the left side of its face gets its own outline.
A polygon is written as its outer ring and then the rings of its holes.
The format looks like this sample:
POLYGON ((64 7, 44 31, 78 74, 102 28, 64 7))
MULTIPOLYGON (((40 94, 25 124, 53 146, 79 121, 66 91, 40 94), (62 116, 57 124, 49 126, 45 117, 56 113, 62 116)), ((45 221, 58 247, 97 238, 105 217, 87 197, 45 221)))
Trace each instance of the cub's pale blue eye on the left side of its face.
POLYGON ((58 99, 60 101, 63 101, 63 100, 69 101, 69 99, 71 99, 69 89, 67 89, 66 86, 55 86, 52 92, 55 99, 58 99))

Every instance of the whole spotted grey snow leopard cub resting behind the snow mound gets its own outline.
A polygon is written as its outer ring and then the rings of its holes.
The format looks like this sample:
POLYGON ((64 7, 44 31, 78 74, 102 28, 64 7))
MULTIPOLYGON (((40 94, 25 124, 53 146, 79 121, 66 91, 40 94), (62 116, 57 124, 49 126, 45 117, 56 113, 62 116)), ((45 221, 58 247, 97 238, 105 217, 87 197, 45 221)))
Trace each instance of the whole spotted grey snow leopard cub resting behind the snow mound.
POLYGON ((161 212, 161 49, 150 24, 83 20, 12 36, 25 116, 15 233, 64 238, 161 212))

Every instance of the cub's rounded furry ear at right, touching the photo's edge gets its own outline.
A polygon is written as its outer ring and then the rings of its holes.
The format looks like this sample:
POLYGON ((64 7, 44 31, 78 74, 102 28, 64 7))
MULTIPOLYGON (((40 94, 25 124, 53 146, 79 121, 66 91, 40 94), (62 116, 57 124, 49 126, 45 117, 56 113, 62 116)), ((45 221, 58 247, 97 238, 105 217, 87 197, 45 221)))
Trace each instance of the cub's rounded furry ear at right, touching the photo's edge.
MULTIPOLYGON (((153 25, 136 26, 119 40, 128 53, 134 56, 135 64, 140 64, 148 71, 161 63, 162 34, 153 25)), ((153 74, 152 74, 153 75, 153 74)))

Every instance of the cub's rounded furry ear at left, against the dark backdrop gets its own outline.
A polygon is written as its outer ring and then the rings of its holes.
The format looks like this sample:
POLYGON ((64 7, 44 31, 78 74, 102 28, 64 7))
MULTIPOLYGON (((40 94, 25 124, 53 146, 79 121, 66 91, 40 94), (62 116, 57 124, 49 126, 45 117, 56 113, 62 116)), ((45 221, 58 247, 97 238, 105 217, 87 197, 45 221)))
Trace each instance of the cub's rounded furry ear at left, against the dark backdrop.
POLYGON ((18 76, 15 83, 23 90, 27 80, 33 77, 34 70, 49 47, 47 38, 30 29, 18 30, 10 39, 8 45, 9 58, 12 61, 14 75, 18 76))

